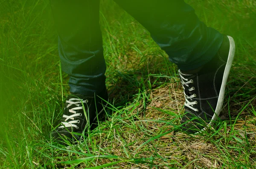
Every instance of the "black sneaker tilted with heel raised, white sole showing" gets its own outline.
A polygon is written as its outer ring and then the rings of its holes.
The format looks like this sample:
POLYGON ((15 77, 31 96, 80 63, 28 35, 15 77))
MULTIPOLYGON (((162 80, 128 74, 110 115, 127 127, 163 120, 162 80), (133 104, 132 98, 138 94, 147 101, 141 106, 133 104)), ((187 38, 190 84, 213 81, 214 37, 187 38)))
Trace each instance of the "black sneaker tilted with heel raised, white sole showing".
POLYGON ((189 134, 201 132, 218 118, 234 55, 233 38, 224 36, 218 53, 197 73, 189 74, 179 70, 186 98, 186 113, 181 120, 183 132, 189 134))

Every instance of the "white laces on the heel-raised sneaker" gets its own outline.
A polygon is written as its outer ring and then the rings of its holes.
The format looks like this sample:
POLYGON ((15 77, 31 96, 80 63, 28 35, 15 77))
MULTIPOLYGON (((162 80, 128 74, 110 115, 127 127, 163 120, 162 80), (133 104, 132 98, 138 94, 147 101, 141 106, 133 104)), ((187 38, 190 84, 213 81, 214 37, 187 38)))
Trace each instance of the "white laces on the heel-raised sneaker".
MULTIPOLYGON (((193 83, 193 80, 192 79, 188 80, 185 77, 183 77, 182 75, 185 75, 185 74, 181 73, 180 70, 179 70, 179 74, 180 74, 180 79, 181 79, 181 83, 182 83, 182 87, 183 87, 183 92, 184 92, 185 99, 186 99, 185 106, 188 107, 189 109, 194 110, 195 112, 198 112, 198 109, 195 109, 194 107, 192 107, 193 105, 197 104, 198 102, 197 101, 190 102, 188 100, 188 99, 192 99, 192 98, 196 97, 196 94, 188 96, 185 93, 185 86, 189 88, 189 83, 193 83)), ((195 90, 195 87, 190 88, 189 92, 192 92, 193 90, 195 90)))

